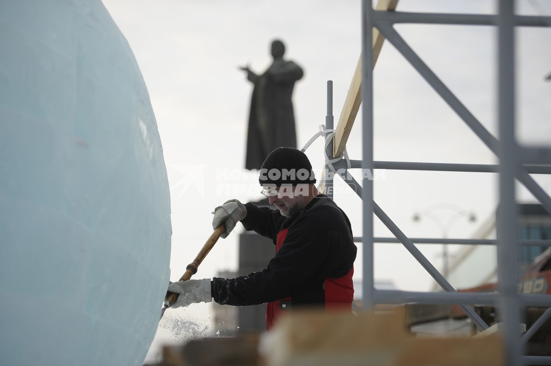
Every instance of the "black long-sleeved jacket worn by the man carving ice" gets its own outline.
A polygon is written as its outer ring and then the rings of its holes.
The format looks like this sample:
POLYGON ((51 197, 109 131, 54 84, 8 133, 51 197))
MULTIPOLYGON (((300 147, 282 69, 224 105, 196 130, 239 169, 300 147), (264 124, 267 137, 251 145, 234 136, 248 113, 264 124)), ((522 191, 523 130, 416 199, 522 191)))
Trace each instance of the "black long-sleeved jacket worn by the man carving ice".
POLYGON ((219 304, 255 305, 292 297, 293 307, 324 303, 325 278, 347 275, 356 258, 350 221, 326 195, 318 195, 292 218, 279 210, 245 204, 247 231, 277 241, 288 229, 266 269, 236 278, 213 278, 212 296, 219 304))

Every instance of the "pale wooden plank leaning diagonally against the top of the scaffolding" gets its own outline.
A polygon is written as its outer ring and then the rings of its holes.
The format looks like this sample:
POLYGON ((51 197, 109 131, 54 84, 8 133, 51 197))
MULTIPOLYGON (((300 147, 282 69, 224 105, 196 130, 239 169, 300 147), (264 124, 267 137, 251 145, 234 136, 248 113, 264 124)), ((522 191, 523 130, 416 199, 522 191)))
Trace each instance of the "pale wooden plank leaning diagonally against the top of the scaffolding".
MULTIPOLYGON (((375 10, 395 10, 398 0, 379 0, 375 6, 375 10)), ((373 29, 373 66, 379 58, 381 53, 382 43, 385 41, 385 37, 379 32, 378 29, 373 29)), ((354 70, 354 76, 352 77, 352 83, 348 88, 348 94, 344 100, 344 106, 341 112, 341 117, 337 124, 335 131, 335 138, 333 140, 333 156, 340 157, 344 154, 344 149, 350 135, 350 130, 354 125, 354 120, 360 109, 361 103, 361 54, 354 70)))

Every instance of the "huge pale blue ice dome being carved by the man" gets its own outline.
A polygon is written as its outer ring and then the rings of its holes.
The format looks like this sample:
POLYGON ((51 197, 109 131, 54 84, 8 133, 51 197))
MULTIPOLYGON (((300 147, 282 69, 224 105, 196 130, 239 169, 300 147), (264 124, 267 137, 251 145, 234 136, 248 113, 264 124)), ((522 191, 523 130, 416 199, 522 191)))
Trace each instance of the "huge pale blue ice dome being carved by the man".
POLYGON ((170 200, 136 59, 99 0, 0 2, 0 364, 141 365, 170 200))

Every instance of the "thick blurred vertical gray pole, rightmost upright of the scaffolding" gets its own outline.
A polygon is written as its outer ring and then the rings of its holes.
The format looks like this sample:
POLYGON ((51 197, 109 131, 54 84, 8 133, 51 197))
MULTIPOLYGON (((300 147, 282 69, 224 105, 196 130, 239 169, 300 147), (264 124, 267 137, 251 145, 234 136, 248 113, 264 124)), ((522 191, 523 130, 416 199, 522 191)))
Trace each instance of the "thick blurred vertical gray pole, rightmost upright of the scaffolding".
POLYGON ((517 294, 515 172, 520 162, 517 161, 518 146, 515 140, 514 1, 499 1, 498 14, 498 288, 505 333, 505 359, 508 365, 517 366, 522 365, 523 360, 521 343, 518 342, 521 318, 517 294))

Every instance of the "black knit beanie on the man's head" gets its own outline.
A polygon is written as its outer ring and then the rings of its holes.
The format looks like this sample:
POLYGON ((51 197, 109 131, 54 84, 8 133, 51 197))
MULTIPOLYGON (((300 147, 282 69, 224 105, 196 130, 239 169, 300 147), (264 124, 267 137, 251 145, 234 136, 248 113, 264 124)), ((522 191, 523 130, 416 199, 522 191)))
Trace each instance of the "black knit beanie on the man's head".
POLYGON ((293 148, 277 148, 262 163, 260 185, 279 187, 282 184, 316 183, 310 160, 304 152, 293 148))

